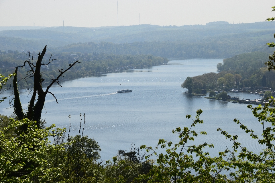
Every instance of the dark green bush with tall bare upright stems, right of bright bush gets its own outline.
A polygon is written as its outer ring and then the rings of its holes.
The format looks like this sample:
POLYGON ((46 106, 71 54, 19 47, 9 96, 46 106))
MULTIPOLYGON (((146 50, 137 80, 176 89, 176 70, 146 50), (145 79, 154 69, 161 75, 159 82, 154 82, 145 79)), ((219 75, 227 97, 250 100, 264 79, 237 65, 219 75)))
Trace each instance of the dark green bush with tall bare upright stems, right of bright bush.
MULTIPOLYGON (((70 116, 69 116, 70 117, 70 116)), ((63 152, 50 151, 48 152, 48 161, 52 166, 59 168, 62 176, 59 181, 66 181, 72 183, 79 182, 100 182, 103 180, 103 161, 97 161, 100 158, 101 151, 98 143, 88 136, 83 136, 85 128, 85 114, 84 122, 80 114, 80 128, 78 135, 70 136, 70 127, 66 143, 63 138, 55 138, 54 144, 61 144, 64 146, 63 152), (82 130, 82 134, 81 134, 82 130)), ((53 135, 56 132, 53 131, 53 135)))

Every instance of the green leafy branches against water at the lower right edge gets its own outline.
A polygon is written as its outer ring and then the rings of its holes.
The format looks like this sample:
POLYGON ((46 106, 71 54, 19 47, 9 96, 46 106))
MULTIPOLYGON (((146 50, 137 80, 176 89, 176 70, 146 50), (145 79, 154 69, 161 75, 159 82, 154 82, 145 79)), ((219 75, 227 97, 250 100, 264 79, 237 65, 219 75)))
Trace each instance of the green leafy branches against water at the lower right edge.
POLYGON ((237 142, 238 136, 231 136, 227 132, 221 131, 227 139, 233 142, 233 150, 230 151, 232 158, 230 162, 223 162, 224 166, 229 168, 237 169, 235 172, 231 172, 231 176, 235 180, 241 182, 274 182, 275 180, 275 152, 274 152, 274 132, 275 132, 275 108, 270 108, 269 106, 275 104, 275 100, 271 97, 269 103, 264 107, 259 105, 258 107, 252 107, 248 105, 247 108, 252 109, 253 115, 258 118, 258 121, 263 127, 262 138, 257 136, 253 130, 247 128, 247 126, 241 124, 237 119, 234 119, 236 124, 240 125, 240 128, 249 134, 252 139, 258 140, 260 145, 264 145, 266 148, 260 154, 255 154, 249 151, 241 143, 237 142), (267 127, 265 127, 267 126, 267 127), (240 152, 236 156, 237 150, 240 152))

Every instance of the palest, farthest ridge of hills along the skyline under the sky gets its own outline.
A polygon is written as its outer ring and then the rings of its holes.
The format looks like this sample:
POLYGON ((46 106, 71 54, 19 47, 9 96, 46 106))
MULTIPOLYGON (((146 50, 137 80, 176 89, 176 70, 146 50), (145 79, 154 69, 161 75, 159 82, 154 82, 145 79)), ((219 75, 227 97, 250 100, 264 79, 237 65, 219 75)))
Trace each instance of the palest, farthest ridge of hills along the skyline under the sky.
MULTIPOLYGON (((11 27, 12 28, 12 27, 11 27)), ((203 38, 230 33, 245 33, 271 30, 273 22, 221 23, 210 22, 206 25, 158 26, 131 25, 111 27, 46 27, 32 30, 3 30, 1 37, 20 37, 23 39, 56 39, 67 43, 87 41, 106 41, 113 43, 133 43, 135 41, 175 41, 203 38)), ((1 27, 0 27, 1 29, 1 27)))

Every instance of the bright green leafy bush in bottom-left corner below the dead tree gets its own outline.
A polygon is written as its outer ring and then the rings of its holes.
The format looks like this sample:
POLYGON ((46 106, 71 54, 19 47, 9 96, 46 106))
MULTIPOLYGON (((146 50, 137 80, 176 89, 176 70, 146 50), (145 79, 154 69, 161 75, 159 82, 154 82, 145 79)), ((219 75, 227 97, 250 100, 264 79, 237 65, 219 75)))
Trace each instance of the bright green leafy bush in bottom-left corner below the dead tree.
POLYGON ((60 176, 59 168, 44 158, 49 150, 63 149, 48 143, 53 127, 39 129, 34 121, 9 119, 0 129, 0 182, 53 182, 60 176), (20 128, 25 125, 23 132, 20 128))

